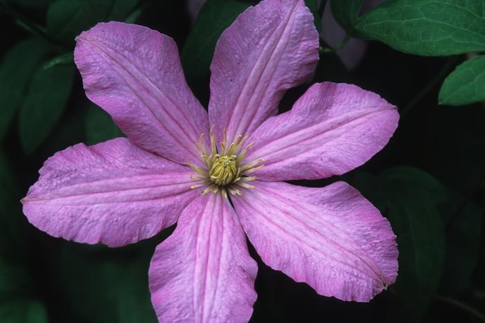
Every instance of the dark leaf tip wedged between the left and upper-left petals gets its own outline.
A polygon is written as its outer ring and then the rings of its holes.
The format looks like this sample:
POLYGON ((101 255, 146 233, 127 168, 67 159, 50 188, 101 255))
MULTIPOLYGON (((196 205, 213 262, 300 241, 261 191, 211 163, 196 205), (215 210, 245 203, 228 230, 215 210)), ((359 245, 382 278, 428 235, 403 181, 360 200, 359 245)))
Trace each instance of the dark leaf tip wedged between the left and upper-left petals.
POLYGON ((89 104, 85 123, 86 144, 94 145, 109 139, 124 137, 125 134, 114 124, 109 114, 96 106, 89 104))

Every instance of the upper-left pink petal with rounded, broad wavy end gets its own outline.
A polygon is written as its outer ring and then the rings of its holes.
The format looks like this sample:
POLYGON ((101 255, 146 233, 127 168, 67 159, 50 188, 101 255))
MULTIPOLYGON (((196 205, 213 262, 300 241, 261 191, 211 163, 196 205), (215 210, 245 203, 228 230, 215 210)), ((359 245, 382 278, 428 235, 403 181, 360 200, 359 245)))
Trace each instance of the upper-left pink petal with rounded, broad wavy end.
POLYGON ((178 163, 198 162, 207 113, 188 89, 175 41, 143 26, 100 23, 77 38, 87 97, 137 145, 178 163))

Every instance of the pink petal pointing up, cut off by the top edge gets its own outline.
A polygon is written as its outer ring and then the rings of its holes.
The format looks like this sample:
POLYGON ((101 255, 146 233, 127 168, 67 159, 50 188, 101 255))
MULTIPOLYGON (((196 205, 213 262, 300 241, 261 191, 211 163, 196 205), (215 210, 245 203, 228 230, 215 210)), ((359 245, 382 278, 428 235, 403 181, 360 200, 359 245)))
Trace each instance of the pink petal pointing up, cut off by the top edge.
POLYGON ((310 76, 318 33, 302 0, 266 0, 222 33, 211 65, 209 120, 229 142, 277 111, 286 89, 310 76))

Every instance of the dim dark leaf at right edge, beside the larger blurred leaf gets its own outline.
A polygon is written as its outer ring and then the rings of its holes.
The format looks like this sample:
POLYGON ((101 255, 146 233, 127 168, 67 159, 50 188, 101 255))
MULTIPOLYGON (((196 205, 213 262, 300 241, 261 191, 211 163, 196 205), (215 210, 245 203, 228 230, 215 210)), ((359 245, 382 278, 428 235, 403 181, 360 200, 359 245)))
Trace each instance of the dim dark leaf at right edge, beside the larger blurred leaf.
POLYGON ((470 287, 481 252, 483 212, 466 196, 451 194, 443 207, 446 220, 446 266, 442 287, 461 293, 470 287))

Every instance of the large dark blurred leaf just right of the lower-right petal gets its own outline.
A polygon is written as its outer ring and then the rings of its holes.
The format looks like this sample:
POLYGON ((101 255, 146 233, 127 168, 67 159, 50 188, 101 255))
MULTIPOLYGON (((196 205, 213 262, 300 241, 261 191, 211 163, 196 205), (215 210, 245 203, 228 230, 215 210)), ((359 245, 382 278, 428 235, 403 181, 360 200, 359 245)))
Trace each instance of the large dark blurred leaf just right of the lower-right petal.
POLYGON ((390 287, 398 296, 393 317, 418 321, 443 272, 445 236, 436 205, 446 192, 436 179, 413 167, 393 167, 378 178, 358 174, 354 185, 378 205, 397 236, 398 279, 390 287))

